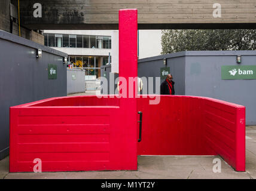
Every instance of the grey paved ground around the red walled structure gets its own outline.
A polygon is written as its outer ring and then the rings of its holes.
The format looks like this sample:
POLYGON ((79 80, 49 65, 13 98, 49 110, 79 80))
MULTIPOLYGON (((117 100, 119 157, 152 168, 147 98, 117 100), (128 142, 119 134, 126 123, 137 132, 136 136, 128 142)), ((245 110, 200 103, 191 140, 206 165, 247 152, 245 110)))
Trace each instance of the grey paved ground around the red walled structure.
MULTIPOLYGON (((95 95, 95 91, 69 96, 95 95)), ((221 159, 221 172, 212 163, 218 156, 139 156, 138 171, 9 173, 8 157, 0 161, 0 178, 256 178, 256 126, 246 127, 246 172, 236 172, 221 159)))

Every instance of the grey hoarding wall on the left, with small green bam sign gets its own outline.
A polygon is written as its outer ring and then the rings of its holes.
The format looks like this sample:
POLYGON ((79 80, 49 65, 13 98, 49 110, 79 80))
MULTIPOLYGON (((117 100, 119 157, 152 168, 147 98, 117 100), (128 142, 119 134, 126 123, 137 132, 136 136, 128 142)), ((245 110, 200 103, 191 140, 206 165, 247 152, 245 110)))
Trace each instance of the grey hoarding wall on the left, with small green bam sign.
POLYGON ((48 97, 66 96, 65 53, 0 31, 0 159, 8 155, 9 108, 48 97), (36 48, 42 57, 36 58, 36 48), (48 64, 57 79, 48 79, 48 64))

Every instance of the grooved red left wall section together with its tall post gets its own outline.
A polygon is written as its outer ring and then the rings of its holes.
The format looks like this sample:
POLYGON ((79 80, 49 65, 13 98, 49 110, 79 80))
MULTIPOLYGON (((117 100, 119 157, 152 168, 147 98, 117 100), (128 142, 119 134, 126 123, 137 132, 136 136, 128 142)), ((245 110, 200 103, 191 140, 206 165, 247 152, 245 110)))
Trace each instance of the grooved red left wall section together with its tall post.
MULTIPOLYGON (((120 76, 128 82, 137 76, 137 10, 120 10, 119 20, 120 76)), ((134 96, 50 98, 11 107, 10 172, 33 171, 35 158, 42 171, 136 170, 136 118, 134 96)))

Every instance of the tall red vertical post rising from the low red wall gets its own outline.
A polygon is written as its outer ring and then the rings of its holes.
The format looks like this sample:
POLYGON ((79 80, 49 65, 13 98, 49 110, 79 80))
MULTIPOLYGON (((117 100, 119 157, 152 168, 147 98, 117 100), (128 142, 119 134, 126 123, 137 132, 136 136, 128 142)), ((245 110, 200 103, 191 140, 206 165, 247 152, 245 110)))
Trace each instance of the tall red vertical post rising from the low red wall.
POLYGON ((126 98, 120 98, 124 152, 123 165, 127 170, 137 170, 137 79, 129 89, 129 78, 138 76, 137 58, 138 11, 119 11, 119 77, 127 82, 126 98), (129 95, 131 95, 132 97, 129 95))

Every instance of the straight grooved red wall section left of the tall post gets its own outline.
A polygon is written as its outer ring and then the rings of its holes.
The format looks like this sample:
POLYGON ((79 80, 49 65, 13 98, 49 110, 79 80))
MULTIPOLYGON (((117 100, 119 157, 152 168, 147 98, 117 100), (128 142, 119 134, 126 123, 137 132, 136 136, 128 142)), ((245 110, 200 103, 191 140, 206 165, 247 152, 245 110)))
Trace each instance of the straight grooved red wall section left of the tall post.
POLYGON ((119 106, 42 106, 54 100, 69 104, 68 98, 50 98, 10 108, 10 172, 33 171, 36 158, 42 171, 132 168, 128 154, 120 155, 129 143, 120 136, 119 106))

